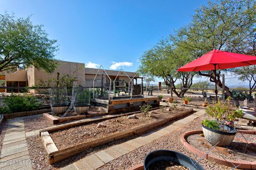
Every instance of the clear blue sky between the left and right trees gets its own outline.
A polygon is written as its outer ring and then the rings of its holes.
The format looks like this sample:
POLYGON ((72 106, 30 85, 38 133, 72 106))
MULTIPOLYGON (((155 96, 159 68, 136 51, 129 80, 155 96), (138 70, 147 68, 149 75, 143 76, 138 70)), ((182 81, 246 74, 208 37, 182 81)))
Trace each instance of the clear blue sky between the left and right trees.
POLYGON ((58 40, 59 60, 136 71, 145 50, 187 25, 207 2, 1 0, 0 13, 32 15, 34 24, 58 40))

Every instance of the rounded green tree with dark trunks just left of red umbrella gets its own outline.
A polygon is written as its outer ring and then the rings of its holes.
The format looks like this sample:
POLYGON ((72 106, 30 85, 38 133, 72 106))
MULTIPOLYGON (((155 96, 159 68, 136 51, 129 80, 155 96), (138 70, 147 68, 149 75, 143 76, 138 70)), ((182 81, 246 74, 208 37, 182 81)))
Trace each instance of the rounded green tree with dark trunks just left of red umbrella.
POLYGON ((186 88, 191 87, 193 83, 195 73, 177 72, 184 63, 191 61, 191 56, 184 48, 173 45, 171 39, 159 41, 142 55, 140 61, 139 72, 164 79, 166 86, 172 86, 173 92, 178 97, 183 97, 187 91, 186 88), (177 81, 180 82, 181 88, 185 89, 177 90, 175 88, 177 81))

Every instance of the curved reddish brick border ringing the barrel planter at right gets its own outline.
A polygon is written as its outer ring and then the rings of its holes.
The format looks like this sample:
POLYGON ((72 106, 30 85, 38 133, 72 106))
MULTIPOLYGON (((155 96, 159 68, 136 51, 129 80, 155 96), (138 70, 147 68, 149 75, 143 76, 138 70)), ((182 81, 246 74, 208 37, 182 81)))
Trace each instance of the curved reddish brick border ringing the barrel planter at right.
MULTIPOLYGON (((242 131, 241 131, 242 132, 242 131)), ((217 156, 213 156, 210 154, 206 154, 203 151, 199 151, 199 149, 191 146, 186 138, 191 135, 191 134, 198 134, 198 133, 203 133, 202 130, 194 130, 194 131, 189 131, 186 132, 184 134, 181 135, 180 139, 181 139, 181 143, 191 152, 193 152, 194 154, 197 154, 199 157, 203 157, 204 159, 210 160, 212 162, 215 162, 217 164, 221 164, 221 165, 225 165, 225 166, 229 166, 229 167, 234 167, 232 164, 238 166, 239 169, 256 169, 256 161, 254 162, 249 162, 249 161, 239 161, 239 160, 230 160, 230 159, 223 159, 223 158, 219 158, 217 156), (231 164, 231 163, 232 164, 231 164)), ((243 133, 243 132, 242 132, 243 133)), ((247 134, 251 134, 251 133, 247 133, 247 134)), ((253 133, 254 134, 254 133, 253 133)))

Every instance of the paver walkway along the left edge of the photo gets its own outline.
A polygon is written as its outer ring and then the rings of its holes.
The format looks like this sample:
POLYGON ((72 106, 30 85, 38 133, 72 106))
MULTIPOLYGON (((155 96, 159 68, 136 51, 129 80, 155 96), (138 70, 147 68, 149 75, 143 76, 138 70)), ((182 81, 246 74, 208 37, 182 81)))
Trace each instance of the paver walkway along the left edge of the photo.
MULTIPOLYGON (((33 115, 26 117, 38 117, 33 115)), ((32 169, 33 161, 30 160, 26 137, 39 134, 39 130, 25 133, 23 119, 26 117, 13 118, 8 126, 3 139, 0 156, 0 170, 2 169, 32 169)))

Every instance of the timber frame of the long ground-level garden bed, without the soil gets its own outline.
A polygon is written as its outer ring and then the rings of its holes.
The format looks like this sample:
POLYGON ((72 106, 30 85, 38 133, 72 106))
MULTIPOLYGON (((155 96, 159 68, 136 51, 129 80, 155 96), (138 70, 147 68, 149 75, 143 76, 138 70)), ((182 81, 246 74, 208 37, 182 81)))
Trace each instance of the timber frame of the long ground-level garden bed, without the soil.
MULTIPOLYGON (((106 119, 113 119, 116 117, 109 115, 109 117, 105 117, 104 119, 102 118, 102 119, 91 120, 91 121, 81 120, 81 121, 71 122, 63 125, 58 125, 52 128, 44 129, 40 132, 40 134, 41 134, 42 140, 44 141, 44 146, 46 148, 46 151, 49 155, 49 162, 50 164, 53 164, 53 163, 60 162, 61 160, 64 160, 68 157, 79 154, 80 152, 83 152, 86 149, 98 147, 112 141, 130 137, 134 134, 140 134, 140 133, 146 132, 148 130, 156 128, 157 126, 161 126, 167 122, 173 121, 179 117, 185 116, 192 112, 193 112, 193 109, 188 109, 187 111, 183 111, 180 113, 170 114, 165 118, 159 118, 158 120, 149 122, 147 124, 134 126, 132 128, 125 129, 124 131, 121 131, 121 132, 110 133, 107 136, 99 137, 98 139, 92 139, 90 141, 86 141, 82 143, 76 143, 73 146, 62 148, 62 149, 58 149, 57 148, 58 145, 56 145, 54 143, 54 140, 52 140, 51 138, 52 132, 58 131, 57 133, 59 133, 59 130, 66 130, 70 127, 84 125, 92 122, 99 122, 106 119), (56 148, 58 150, 56 150, 56 148)), ((128 114, 129 113, 127 113, 126 115, 128 114)), ((120 115, 117 115, 117 116, 120 116, 120 115)), ((55 136, 58 136, 58 134, 56 134, 55 136)))

